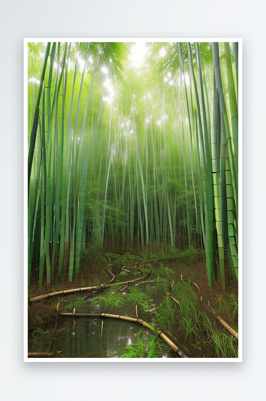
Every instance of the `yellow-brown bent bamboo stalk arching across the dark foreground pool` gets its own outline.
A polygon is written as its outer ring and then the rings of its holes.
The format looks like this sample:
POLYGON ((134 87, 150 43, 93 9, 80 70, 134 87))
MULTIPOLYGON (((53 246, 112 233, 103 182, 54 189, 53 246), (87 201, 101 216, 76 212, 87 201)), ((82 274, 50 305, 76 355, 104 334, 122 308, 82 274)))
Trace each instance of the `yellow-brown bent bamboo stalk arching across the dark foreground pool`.
MULTIPOLYGON (((73 317, 73 313, 68 313, 68 312, 62 312, 60 314, 61 317, 73 317)), ((126 320, 126 321, 134 321, 135 323, 139 323, 142 326, 145 326, 152 330, 153 333, 158 334, 165 342, 166 344, 169 345, 170 348, 172 348, 173 351, 177 352, 179 356, 182 358, 188 358, 188 356, 185 354, 185 352, 179 348, 169 337, 167 334, 163 333, 162 330, 157 330, 155 329, 152 324, 148 323, 147 321, 144 321, 142 319, 138 318, 130 318, 128 316, 120 316, 120 315, 112 315, 109 313, 76 313, 75 317, 77 316, 82 316, 82 317, 104 317, 104 318, 113 318, 113 319, 121 319, 121 320, 126 320)))

